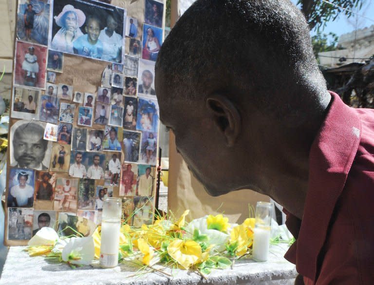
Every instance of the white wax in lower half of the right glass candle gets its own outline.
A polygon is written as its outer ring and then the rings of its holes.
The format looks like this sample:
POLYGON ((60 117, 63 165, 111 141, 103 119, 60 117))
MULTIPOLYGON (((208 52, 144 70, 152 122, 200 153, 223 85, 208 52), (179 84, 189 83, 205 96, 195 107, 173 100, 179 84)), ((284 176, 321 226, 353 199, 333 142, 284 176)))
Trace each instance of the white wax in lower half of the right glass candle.
POLYGON ((270 246, 270 228, 254 228, 252 258, 267 261, 270 246))

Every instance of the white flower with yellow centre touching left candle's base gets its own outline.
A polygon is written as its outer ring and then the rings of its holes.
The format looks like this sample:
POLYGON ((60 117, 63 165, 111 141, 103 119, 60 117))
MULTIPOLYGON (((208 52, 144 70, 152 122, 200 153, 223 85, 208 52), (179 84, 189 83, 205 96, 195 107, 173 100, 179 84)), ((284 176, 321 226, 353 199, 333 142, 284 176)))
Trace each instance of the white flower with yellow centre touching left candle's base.
POLYGON ((73 237, 62 249, 62 260, 69 264, 89 265, 95 256, 92 237, 73 237))

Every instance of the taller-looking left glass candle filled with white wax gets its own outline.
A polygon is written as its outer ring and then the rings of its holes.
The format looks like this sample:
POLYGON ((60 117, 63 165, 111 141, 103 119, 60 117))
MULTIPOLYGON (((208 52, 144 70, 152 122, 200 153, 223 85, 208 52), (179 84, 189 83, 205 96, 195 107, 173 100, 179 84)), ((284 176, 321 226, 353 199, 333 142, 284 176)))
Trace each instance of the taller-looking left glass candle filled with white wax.
POLYGON ((104 198, 100 246, 100 266, 104 268, 118 265, 121 210, 120 198, 104 198))

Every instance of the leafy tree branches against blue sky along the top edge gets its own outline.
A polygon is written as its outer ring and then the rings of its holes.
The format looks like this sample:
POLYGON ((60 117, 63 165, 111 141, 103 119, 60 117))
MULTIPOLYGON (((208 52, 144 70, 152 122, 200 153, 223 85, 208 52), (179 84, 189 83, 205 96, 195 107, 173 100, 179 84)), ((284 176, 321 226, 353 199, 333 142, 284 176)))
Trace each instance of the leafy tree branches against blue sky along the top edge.
POLYGON ((298 0, 298 5, 308 21, 310 29, 324 28, 326 23, 337 19, 343 13, 347 17, 352 16, 352 9, 361 8, 365 0, 298 0), (331 3, 334 3, 332 5, 331 3), (341 8, 340 8, 341 7, 341 8))

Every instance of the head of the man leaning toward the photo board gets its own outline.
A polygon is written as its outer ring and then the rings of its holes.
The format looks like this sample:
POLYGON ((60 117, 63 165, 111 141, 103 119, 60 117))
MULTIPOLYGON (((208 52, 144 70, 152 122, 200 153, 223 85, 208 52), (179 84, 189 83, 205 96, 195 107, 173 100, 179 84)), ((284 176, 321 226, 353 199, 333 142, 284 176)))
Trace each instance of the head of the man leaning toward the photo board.
POLYGON ((213 195, 263 189, 263 177, 281 169, 275 144, 285 150, 286 134, 314 124, 329 98, 308 25, 289 0, 197 0, 163 43, 155 71, 160 119, 213 195))

